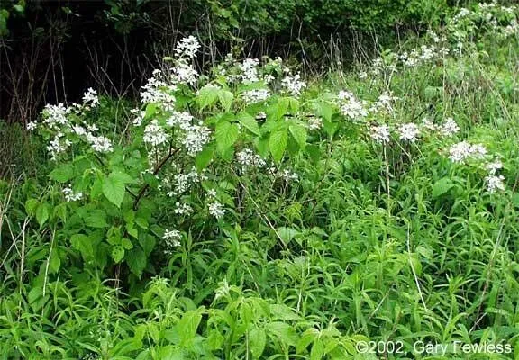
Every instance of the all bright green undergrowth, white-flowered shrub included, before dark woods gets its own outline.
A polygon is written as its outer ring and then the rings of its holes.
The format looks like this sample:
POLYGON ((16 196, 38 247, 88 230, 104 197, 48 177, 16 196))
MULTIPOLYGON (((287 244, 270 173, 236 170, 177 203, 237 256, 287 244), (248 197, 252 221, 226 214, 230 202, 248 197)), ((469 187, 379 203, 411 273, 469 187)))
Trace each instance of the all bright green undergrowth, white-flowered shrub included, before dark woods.
POLYGON ((0 358, 518 356, 517 14, 323 78, 199 74, 190 36, 123 120, 47 105, 0 183, 0 358))

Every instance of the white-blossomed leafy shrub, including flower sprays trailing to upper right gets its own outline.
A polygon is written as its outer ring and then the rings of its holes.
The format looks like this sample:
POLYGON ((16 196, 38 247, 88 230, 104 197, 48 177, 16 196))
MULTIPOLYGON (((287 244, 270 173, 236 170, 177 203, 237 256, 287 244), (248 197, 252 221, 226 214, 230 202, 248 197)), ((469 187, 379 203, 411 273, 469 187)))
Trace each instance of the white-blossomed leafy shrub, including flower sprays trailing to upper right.
MULTIPOLYGON (((506 16, 511 12, 502 9, 506 16)), ((481 17, 462 10, 448 34, 459 33, 466 25, 460 19, 469 15, 481 17)), ((386 53, 361 77, 368 72, 391 76, 400 68, 446 61, 451 44, 459 48, 447 36, 433 31, 427 36, 442 48, 423 45, 409 53, 386 53)), ((399 99, 390 91, 375 101, 361 100, 350 90, 309 96, 301 76, 281 58, 260 64, 255 58, 236 61, 228 56, 214 67, 213 78, 199 77, 193 66, 199 48, 192 36, 178 41, 174 58, 165 59, 170 66, 155 70, 142 87, 141 108, 132 110, 131 137, 119 144, 102 134, 95 121, 87 121, 96 119, 99 104, 93 89, 83 103, 47 105, 41 124, 28 125, 49 140, 47 150, 57 164, 50 178, 63 184, 60 192, 66 203, 58 205, 53 217, 47 214, 47 204, 31 201, 28 208, 41 225, 61 221, 84 261, 100 267, 125 261, 141 276, 157 242, 164 253, 172 254, 195 230, 203 229, 196 219, 207 216, 224 229, 227 223, 253 216, 259 205, 251 193, 279 181, 285 186, 297 182, 290 159, 302 153, 312 156, 314 147, 306 145, 320 141, 322 130, 332 139, 351 125, 360 127, 360 139, 384 148, 387 166, 391 151, 411 151, 432 142, 439 148, 449 146, 446 152, 438 151, 452 162, 486 171, 490 193, 505 189, 504 176, 497 175, 498 157, 482 144, 452 143, 460 127, 451 118, 438 124, 427 119, 402 122, 396 109, 399 99), (160 220, 157 211, 164 213, 160 220)))

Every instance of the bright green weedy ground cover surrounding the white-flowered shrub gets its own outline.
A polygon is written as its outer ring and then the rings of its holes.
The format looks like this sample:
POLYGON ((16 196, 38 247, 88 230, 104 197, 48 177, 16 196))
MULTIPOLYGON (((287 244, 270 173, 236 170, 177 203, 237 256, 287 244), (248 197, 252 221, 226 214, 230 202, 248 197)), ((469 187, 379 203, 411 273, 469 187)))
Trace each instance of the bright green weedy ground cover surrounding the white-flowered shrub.
MULTIPOLYGON (((468 39, 461 56, 391 76, 332 73, 305 94, 376 100, 390 90, 393 115, 372 121, 451 117, 454 138, 383 148, 341 119, 333 137, 310 133, 312 152, 291 159, 298 182, 241 178, 233 220, 196 214, 182 246, 172 255, 159 246, 141 278, 124 266, 77 266, 68 233, 27 217, 26 199, 59 197, 50 184, 2 183, 0 358, 516 358, 519 39, 468 39), (461 140, 501 158, 505 191, 488 193, 484 171, 446 157, 461 140), (357 354, 359 341, 401 351, 357 354), (510 351, 434 356, 416 353, 417 341, 510 351)), ((120 119, 104 125, 127 135, 120 119)))

